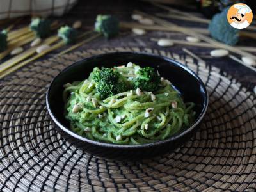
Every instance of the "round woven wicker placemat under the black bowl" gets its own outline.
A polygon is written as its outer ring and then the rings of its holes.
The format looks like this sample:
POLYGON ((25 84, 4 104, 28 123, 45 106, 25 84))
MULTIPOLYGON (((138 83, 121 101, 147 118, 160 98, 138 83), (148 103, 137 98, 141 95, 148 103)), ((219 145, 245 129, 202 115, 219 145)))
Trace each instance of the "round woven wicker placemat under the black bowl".
POLYGON ((33 63, 0 83, 0 191, 255 191, 255 105, 255 95, 218 68, 170 52, 100 49, 33 63), (51 79, 76 60, 113 51, 175 58, 202 78, 209 109, 184 146, 143 161, 113 161, 84 154, 55 131, 45 107, 51 79))

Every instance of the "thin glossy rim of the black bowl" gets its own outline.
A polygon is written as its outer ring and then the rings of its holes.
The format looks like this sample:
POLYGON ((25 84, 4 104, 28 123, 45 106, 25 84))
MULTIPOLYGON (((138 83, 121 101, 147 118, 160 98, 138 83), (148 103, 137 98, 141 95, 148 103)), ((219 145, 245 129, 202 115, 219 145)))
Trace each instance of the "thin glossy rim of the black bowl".
POLYGON ((130 51, 125 51, 125 52, 110 52, 110 53, 104 53, 104 54, 99 54, 99 55, 95 55, 95 56, 90 56, 88 58, 83 58, 79 61, 76 61, 74 63, 72 63, 71 65, 68 65, 68 67, 63 68, 63 70, 61 70, 61 72, 58 73, 57 76, 55 76, 48 89, 47 89, 47 93, 46 93, 46 106, 47 106, 47 111, 49 113, 49 115, 51 116, 52 120, 54 121, 54 123, 60 128, 62 129, 62 131, 67 132, 67 134, 69 134, 70 136, 76 138, 77 140, 86 142, 86 143, 90 143, 93 145, 97 145, 100 147, 108 147, 108 148, 125 148, 125 149, 131 149, 131 148, 145 148, 145 147, 156 147, 156 145, 163 145, 164 143, 169 143, 170 141, 174 141, 177 140, 179 138, 181 138, 182 136, 188 134, 189 132, 193 131, 193 129, 195 129, 195 127, 202 121, 202 119, 205 116, 205 113, 207 111, 207 107, 209 104, 209 95, 207 93, 207 90, 205 88, 205 84, 203 83, 202 79, 200 79, 200 77, 195 74, 195 72, 193 72, 193 70, 189 69, 188 67, 186 67, 186 65, 183 65, 182 63, 179 63, 178 61, 175 61, 171 58, 167 58, 166 56, 159 56, 156 54, 151 54, 151 53, 144 53, 144 52, 130 52, 130 51), (159 58, 161 60, 165 60, 168 61, 168 63, 172 63, 174 65, 177 65, 178 67, 182 68, 183 70, 186 70, 186 72, 188 72, 189 74, 191 74, 193 77, 196 78, 196 80, 199 82, 200 86, 202 86, 204 93, 205 93, 205 97, 204 97, 204 106, 202 111, 200 112, 200 115, 198 116, 198 118, 195 120, 195 122, 193 122, 193 124, 191 126, 189 126, 187 129, 185 129, 183 132, 180 132, 179 134, 175 134, 173 136, 171 136, 170 138, 166 138, 165 140, 160 140, 160 141, 156 141, 154 143, 145 143, 145 144, 141 144, 141 145, 118 145, 118 144, 113 144, 113 143, 104 143, 104 142, 100 142, 100 141, 93 141, 90 140, 88 138, 85 138, 83 136, 80 136, 79 134, 76 134, 76 132, 71 131, 70 129, 68 129, 68 127, 66 127, 65 125, 61 124, 61 122, 58 121, 58 119, 56 118, 56 116, 52 113, 51 111, 51 106, 49 104, 49 92, 51 91, 51 87, 52 84, 54 83, 54 81, 56 81, 56 79, 58 79, 59 76, 61 76, 61 74, 65 73, 67 70, 69 70, 70 68, 72 68, 74 65, 81 65, 81 63, 86 62, 87 60, 94 60, 95 58, 100 58, 102 56, 111 56, 111 55, 116 55, 116 54, 134 54, 134 55, 144 55, 144 56, 153 56, 156 58, 159 58))

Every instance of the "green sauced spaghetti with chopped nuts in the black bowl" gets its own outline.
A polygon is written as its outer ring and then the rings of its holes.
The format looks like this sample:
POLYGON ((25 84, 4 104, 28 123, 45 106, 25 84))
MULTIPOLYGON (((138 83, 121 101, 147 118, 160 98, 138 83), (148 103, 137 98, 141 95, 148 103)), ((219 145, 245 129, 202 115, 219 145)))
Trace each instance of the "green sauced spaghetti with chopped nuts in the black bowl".
MULTIPOLYGON (((138 65, 115 67, 134 81, 138 65)), ((155 92, 130 90, 106 99, 96 93, 92 76, 65 85, 65 117, 72 131, 90 140, 140 145, 169 138, 193 121, 194 104, 184 104, 170 81, 161 79, 155 92)))

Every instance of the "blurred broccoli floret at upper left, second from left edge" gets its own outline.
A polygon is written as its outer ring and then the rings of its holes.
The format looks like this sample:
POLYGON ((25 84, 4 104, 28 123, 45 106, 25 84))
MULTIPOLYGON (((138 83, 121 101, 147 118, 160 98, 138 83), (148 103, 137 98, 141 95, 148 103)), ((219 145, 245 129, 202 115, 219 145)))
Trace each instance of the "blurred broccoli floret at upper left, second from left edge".
POLYGON ((51 33, 51 21, 47 19, 32 19, 29 27, 40 38, 45 38, 51 33))

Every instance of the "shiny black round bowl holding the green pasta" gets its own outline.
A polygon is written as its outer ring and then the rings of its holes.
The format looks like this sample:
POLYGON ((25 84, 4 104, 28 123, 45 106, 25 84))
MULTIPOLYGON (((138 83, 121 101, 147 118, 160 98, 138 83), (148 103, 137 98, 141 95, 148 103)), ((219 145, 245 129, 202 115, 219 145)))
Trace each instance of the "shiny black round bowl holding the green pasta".
POLYGON ((153 54, 115 52, 85 58, 62 70, 60 74, 53 79, 47 90, 46 103, 52 122, 67 141, 82 148, 93 156, 124 159, 152 157, 168 152, 188 141, 205 115, 208 105, 208 95, 201 79, 196 76, 194 72, 189 70, 189 68, 177 61, 153 54), (89 140, 79 136, 76 132, 72 132, 69 128, 69 123, 65 120, 63 115, 64 102, 61 99, 63 84, 86 79, 94 67, 126 65, 126 63, 130 61, 141 67, 150 66, 156 68, 161 77, 169 79, 177 90, 179 90, 185 102, 194 102, 196 104, 196 120, 194 124, 171 138, 144 145, 115 145, 102 143, 89 140))

